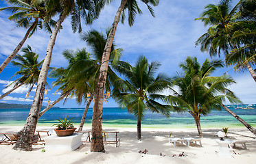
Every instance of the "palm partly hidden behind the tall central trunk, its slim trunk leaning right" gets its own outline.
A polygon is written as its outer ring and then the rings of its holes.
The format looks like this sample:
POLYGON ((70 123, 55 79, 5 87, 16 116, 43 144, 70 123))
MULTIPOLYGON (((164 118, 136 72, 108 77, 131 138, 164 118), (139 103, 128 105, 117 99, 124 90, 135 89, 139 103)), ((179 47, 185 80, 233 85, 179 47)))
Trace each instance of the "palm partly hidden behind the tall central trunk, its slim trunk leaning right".
MULTIPOLYGON (((106 29, 106 36, 104 36, 103 33, 100 33, 95 30, 91 30, 88 33, 83 33, 81 38, 82 40, 86 41, 89 46, 93 49, 93 52, 91 53, 94 57, 94 64, 92 66, 89 66, 89 68, 86 70, 88 74, 91 76, 89 81, 90 82, 90 92, 91 96, 86 104, 86 108, 84 110, 84 114, 82 116, 82 120, 80 122, 80 127, 78 130, 82 131, 82 127, 84 125, 84 120, 86 117, 86 113, 89 109, 89 105, 91 103, 91 100, 93 100, 93 96, 95 96, 96 93, 96 86, 97 86, 97 79, 100 74, 100 66, 102 65, 102 55, 104 53, 104 46, 107 42, 107 36, 110 33, 110 29, 106 29)), ((110 59, 108 61, 108 74, 106 78, 106 85, 105 85, 105 91, 110 92, 112 83, 117 79, 117 74, 113 71, 111 66, 117 64, 119 62, 119 59, 121 57, 123 49, 116 49, 116 45, 113 42, 111 49, 110 49, 110 59)))

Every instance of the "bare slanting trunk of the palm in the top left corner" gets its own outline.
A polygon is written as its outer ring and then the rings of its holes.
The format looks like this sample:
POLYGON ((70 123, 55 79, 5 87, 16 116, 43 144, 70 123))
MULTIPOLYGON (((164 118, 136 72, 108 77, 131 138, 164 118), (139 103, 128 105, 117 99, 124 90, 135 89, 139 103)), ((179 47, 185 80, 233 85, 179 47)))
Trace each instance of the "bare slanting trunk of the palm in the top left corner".
POLYGON ((12 60, 12 58, 19 52, 19 50, 21 49, 21 47, 23 46, 23 44, 25 43, 25 41, 27 40, 27 37, 30 35, 30 32, 32 31, 32 29, 34 29, 34 27, 36 26, 38 22, 38 19, 36 18, 36 20, 34 21, 34 23, 32 24, 32 26, 27 30, 27 32, 25 33, 25 36, 23 38, 23 40, 21 40, 21 42, 19 42, 18 46, 16 46, 16 49, 14 49, 14 51, 5 59, 5 61, 3 61, 3 63, 0 66, 0 73, 3 71, 3 69, 10 63, 10 61, 12 60))

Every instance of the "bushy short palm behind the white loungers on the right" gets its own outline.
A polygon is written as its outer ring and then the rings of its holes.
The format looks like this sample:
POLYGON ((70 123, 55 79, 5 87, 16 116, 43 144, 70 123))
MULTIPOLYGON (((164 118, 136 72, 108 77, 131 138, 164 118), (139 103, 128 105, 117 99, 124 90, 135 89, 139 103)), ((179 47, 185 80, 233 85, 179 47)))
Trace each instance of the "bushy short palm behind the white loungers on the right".
POLYGON ((227 75, 211 77, 214 70, 223 67, 220 60, 206 59, 200 66, 196 57, 187 57, 180 67, 183 72, 177 74, 173 81, 178 90, 172 88, 173 94, 168 96, 167 102, 176 112, 190 113, 196 122, 198 134, 202 137, 201 115, 207 115, 212 109, 221 110, 224 97, 230 102, 240 102, 233 92, 226 89, 235 81, 227 75))

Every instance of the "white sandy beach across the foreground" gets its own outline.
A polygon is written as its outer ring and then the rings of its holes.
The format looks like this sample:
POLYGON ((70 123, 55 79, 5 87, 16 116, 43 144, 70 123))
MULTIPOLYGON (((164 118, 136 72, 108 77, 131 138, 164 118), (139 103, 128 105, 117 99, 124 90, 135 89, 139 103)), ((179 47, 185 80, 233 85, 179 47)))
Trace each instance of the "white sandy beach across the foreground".
MULTIPOLYGON (((21 126, 0 126, 0 133, 14 133, 21 126)), ((39 126, 37 130, 47 130, 49 127, 39 126)), ((90 130, 90 129, 84 129, 90 130)), ((119 131, 121 143, 118 148, 115 144, 105 144, 105 153, 91 152, 90 143, 84 143, 75 151, 41 152, 45 146, 33 146, 31 152, 13 150, 13 146, 0 145, 0 163, 252 163, 256 161, 256 139, 246 128, 230 128, 229 138, 232 140, 247 141, 247 150, 237 144, 233 148, 236 154, 232 157, 218 156, 217 132, 221 129, 202 129, 204 138, 202 147, 191 145, 189 147, 178 145, 174 147, 169 143, 169 134, 173 137, 198 137, 194 128, 157 129, 142 128, 142 139, 137 140, 136 128, 106 128, 104 131, 119 131), (139 150, 148 150, 147 154, 139 150), (178 156, 184 152, 187 156, 178 156), (160 155, 162 154, 162 156, 160 155), (176 156, 172 157, 174 154, 176 156)))

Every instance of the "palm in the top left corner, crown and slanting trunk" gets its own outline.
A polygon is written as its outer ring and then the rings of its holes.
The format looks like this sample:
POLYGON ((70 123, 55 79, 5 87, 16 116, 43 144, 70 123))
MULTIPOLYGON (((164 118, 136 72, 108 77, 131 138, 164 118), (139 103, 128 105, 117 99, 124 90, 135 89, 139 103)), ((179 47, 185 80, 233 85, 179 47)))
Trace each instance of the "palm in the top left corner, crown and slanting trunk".
POLYGON ((39 27, 40 29, 45 29, 51 33, 51 27, 53 27, 56 22, 54 20, 49 20, 48 22, 43 22, 45 19, 45 3, 44 1, 21 1, 21 0, 9 0, 8 3, 12 4, 12 7, 1 8, 0 11, 9 10, 12 12, 12 16, 9 17, 10 20, 14 21, 17 27, 24 27, 27 29, 23 40, 19 42, 16 49, 3 61, 0 66, 0 73, 3 71, 5 66, 9 64, 12 58, 19 52, 27 38, 30 38, 32 34, 39 27))

